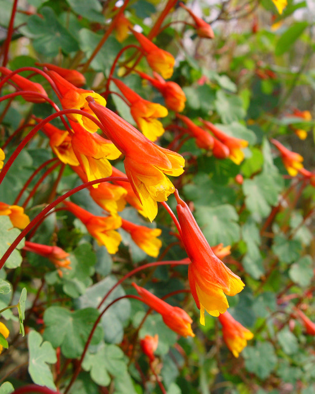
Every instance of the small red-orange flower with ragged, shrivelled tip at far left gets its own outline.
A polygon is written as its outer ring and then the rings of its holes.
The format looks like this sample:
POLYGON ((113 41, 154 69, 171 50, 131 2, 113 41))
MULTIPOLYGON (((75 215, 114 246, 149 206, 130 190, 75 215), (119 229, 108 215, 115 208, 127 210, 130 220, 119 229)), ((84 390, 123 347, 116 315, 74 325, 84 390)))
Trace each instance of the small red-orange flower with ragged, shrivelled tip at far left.
POLYGON ((62 271, 60 268, 71 269, 69 253, 66 253, 58 246, 41 245, 35 244, 34 242, 25 241, 25 246, 23 249, 48 258, 58 269, 60 277, 62 277, 62 271))

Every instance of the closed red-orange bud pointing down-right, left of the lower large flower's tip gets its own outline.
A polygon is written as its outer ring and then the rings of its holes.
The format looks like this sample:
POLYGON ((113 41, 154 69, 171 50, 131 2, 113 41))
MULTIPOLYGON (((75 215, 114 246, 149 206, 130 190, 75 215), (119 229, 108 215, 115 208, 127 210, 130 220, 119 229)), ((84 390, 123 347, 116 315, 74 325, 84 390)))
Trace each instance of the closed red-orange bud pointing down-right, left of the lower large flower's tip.
POLYGON ((183 337, 187 337, 188 335, 194 337, 194 333, 191 330, 192 320, 183 309, 168 304, 143 287, 137 286, 135 283, 132 283, 132 285, 137 290, 142 302, 155 310, 155 312, 160 313, 164 323, 171 330, 183 337))

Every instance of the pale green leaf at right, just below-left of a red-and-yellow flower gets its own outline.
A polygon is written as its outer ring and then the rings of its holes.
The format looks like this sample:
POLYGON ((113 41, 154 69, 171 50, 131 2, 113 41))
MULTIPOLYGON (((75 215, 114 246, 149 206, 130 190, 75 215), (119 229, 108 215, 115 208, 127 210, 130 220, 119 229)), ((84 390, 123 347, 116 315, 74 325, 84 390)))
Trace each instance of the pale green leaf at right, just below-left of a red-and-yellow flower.
POLYGON ((269 215, 271 206, 277 204, 283 178, 278 172, 262 172, 253 179, 245 179, 243 192, 246 206, 253 218, 259 221, 269 215))

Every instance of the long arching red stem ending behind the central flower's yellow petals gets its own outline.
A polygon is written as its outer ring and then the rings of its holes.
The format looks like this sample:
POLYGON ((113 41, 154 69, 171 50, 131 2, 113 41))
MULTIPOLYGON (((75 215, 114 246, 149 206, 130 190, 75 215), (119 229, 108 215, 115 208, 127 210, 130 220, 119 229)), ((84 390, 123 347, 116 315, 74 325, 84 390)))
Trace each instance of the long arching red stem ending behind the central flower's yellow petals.
MULTIPOLYGON (((67 110, 69 111, 69 110, 67 110)), ((10 157, 11 159, 11 157, 10 157)), ((1 173, 0 173, 1 175, 1 173)), ((8 257, 11 255, 11 253, 14 251, 14 249, 18 246, 18 244, 22 241, 22 239, 25 237, 25 235, 28 233, 28 231, 35 226, 38 222, 42 220, 42 218, 53 208, 55 208, 58 204, 62 203, 65 199, 67 199, 70 195, 76 193, 77 191, 80 191, 86 187, 95 185, 97 183, 101 182, 109 182, 109 181, 123 181, 123 182, 129 182, 128 178, 124 177, 106 177, 106 178, 100 178, 100 179, 95 179, 90 182, 83 183, 82 185, 76 186, 73 189, 67 191, 65 194, 61 195, 56 199, 53 203, 49 204, 47 207, 43 209, 42 212, 40 212, 38 215, 34 217, 33 220, 30 221, 30 223, 20 232, 20 234, 17 236, 17 238, 12 242, 12 244, 9 246, 5 254, 2 256, 0 259, 0 269, 4 266, 5 262, 7 261, 8 257)))

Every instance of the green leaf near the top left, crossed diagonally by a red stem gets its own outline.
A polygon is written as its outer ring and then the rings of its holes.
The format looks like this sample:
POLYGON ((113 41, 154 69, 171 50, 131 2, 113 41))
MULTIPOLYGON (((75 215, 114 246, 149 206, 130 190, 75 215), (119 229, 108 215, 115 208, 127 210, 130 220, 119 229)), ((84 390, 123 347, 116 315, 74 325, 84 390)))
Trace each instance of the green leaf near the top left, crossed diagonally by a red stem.
MULTIPOLYGON (((80 41, 80 49, 86 54, 87 58, 92 55, 102 37, 102 34, 94 33, 89 29, 80 30, 78 37, 80 41)), ((112 63, 121 48, 121 44, 114 37, 108 37, 106 43, 92 60, 91 67, 96 71, 108 74, 112 63)))

